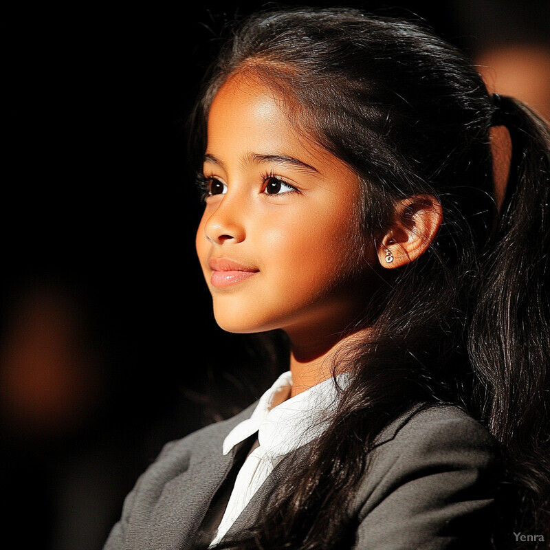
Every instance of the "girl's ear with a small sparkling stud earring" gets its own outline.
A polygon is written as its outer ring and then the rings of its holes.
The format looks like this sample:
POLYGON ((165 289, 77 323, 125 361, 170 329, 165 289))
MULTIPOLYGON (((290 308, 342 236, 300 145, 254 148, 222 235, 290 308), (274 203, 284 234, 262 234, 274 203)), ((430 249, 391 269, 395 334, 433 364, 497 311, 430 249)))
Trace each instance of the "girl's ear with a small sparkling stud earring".
POLYGON ((393 269, 416 260, 433 241, 442 219, 441 203, 432 195, 399 201, 391 227, 377 244, 378 261, 393 269))

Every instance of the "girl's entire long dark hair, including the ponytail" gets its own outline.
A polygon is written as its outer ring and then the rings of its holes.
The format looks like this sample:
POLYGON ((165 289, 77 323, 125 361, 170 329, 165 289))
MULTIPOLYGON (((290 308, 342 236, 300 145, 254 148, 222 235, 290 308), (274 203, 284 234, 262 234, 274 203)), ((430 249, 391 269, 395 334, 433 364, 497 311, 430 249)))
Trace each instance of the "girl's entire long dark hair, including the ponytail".
POLYGON ((212 99, 237 73, 285 96, 296 125, 359 175, 369 239, 404 197, 436 197, 443 223, 426 253, 388 274, 369 307, 373 338, 339 358, 355 377, 334 429, 232 547, 351 545, 346 505, 368 467, 365 449, 413 404, 439 402, 466 408, 500 443, 519 510, 507 529, 550 536, 546 124, 515 100, 497 106, 471 63, 420 21, 289 8, 249 17, 221 49, 192 116, 199 162, 212 99), (497 123, 513 144, 500 214, 489 140, 497 123))

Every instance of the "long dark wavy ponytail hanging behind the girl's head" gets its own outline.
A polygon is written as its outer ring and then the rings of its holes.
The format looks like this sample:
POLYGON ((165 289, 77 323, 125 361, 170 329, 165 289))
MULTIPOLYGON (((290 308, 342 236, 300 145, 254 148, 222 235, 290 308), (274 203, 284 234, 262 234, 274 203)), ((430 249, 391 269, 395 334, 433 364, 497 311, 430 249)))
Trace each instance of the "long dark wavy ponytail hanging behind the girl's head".
POLYGON ((550 539, 550 131, 524 104, 495 96, 511 139, 507 190, 480 267, 470 325, 479 403, 500 441, 519 530, 550 539))

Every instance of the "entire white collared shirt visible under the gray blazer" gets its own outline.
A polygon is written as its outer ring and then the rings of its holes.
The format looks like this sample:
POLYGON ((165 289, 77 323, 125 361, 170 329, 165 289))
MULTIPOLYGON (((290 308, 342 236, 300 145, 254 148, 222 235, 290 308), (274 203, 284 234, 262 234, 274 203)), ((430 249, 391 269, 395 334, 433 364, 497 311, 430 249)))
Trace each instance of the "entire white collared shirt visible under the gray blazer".
POLYGON ((235 426, 223 441, 223 454, 258 432, 259 446, 243 463, 219 524, 212 547, 223 538, 250 499, 285 454, 313 441, 327 428, 327 412, 334 410, 337 388, 329 378, 290 397, 292 373, 283 373, 267 390, 252 416, 235 426), (281 402, 282 401, 282 402, 281 402), (276 406, 272 404, 279 403, 276 406))

